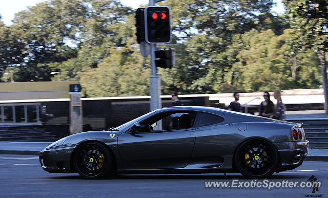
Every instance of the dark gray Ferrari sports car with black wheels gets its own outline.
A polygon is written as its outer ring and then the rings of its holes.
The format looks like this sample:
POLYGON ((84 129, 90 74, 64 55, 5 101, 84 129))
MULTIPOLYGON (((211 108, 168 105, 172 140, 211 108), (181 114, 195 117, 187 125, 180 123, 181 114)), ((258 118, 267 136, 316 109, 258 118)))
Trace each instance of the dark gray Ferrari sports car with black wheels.
POLYGON ((39 160, 45 171, 77 172, 86 179, 235 172, 261 179, 300 166, 308 144, 302 123, 179 106, 152 111, 116 128, 67 136, 40 151, 39 160))

